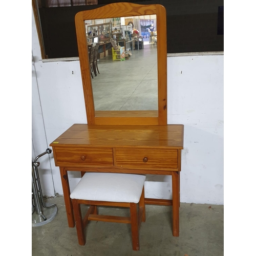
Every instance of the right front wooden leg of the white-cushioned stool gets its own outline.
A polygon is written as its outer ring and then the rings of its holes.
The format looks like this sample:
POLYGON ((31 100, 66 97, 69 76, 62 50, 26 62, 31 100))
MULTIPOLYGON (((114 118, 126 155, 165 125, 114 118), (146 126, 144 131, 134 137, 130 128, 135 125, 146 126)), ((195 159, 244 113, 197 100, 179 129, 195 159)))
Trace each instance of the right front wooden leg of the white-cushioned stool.
POLYGON ((139 227, 137 204, 130 203, 133 250, 139 250, 139 227))

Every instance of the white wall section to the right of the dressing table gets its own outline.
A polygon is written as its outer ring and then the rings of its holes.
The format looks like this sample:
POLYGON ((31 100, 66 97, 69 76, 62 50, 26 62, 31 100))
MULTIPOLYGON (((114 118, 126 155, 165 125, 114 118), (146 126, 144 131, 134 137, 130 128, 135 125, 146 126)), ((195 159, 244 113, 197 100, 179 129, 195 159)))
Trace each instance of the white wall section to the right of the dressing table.
POLYGON ((181 201, 223 204, 223 56, 168 58, 168 123, 184 124, 181 201))

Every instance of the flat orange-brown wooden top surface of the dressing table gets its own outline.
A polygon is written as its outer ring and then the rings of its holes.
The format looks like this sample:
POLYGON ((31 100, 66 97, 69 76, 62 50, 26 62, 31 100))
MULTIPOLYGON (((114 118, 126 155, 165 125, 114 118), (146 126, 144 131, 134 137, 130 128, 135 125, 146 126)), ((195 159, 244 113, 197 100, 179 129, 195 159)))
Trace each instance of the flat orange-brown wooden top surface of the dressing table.
POLYGON ((88 125, 73 124, 50 146, 90 146, 183 149, 183 124, 88 125))

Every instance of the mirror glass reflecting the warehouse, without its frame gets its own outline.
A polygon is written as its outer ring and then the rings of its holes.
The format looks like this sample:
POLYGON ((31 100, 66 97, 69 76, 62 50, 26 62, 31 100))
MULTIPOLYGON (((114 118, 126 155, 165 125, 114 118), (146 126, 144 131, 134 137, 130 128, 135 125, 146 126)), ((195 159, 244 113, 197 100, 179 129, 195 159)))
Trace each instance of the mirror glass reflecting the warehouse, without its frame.
POLYGON ((84 25, 89 61, 90 49, 98 45, 91 68, 95 111, 157 111, 157 16, 92 19, 84 25))

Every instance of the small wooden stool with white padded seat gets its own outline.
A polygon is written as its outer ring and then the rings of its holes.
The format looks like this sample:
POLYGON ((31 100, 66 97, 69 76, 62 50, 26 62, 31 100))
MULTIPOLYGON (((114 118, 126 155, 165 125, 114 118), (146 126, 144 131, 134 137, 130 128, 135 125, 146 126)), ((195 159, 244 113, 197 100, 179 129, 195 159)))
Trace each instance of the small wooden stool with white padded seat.
POLYGON ((86 173, 72 191, 74 218, 80 245, 86 244, 84 228, 89 220, 130 223, 133 250, 139 250, 139 226, 145 222, 144 175, 115 173, 86 173), (80 204, 91 205, 82 218, 80 204), (130 207, 131 217, 97 214, 97 205, 130 207), (139 211, 137 210, 139 205, 139 211))

